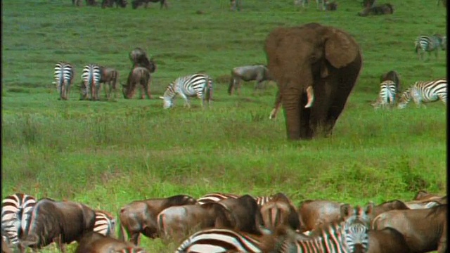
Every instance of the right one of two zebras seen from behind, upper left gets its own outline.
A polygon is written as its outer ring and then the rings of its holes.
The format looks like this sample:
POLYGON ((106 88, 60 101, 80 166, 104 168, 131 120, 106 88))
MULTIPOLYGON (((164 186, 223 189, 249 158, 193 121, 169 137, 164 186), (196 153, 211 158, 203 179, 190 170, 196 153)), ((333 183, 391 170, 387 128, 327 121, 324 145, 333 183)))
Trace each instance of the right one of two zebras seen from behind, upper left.
POLYGON ((90 100, 98 100, 98 91, 100 91, 101 67, 96 64, 88 64, 83 68, 82 80, 84 96, 89 96, 90 100))

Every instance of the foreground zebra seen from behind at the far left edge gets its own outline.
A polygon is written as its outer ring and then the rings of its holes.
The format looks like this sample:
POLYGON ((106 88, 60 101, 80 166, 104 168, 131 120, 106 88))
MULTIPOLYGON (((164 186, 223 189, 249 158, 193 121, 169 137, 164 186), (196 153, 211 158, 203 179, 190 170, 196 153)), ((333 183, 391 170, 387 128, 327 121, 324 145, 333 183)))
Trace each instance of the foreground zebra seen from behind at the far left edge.
POLYGON ((24 193, 15 193, 1 203, 1 233, 8 245, 20 245, 20 237, 30 222, 36 198, 24 193))

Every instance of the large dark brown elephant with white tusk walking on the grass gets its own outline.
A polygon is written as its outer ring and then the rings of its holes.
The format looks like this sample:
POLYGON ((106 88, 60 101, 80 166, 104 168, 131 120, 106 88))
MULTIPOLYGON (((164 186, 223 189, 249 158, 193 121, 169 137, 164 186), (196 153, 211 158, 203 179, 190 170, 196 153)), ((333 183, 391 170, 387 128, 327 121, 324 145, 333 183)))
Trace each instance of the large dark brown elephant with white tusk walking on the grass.
POLYGON ((359 44, 343 30, 309 23, 272 30, 264 51, 280 92, 288 138, 329 136, 361 73, 359 44), (305 108, 308 86, 314 89, 314 103, 305 108))

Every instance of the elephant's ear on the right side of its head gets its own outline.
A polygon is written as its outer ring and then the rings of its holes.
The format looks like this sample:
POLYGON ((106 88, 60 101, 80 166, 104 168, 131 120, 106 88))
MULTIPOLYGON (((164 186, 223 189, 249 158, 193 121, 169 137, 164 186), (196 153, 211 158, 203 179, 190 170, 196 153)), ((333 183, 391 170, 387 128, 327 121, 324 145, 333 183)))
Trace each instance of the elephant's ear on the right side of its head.
POLYGON ((357 45, 342 31, 330 29, 325 41, 325 58, 333 67, 345 67, 356 58, 357 45))

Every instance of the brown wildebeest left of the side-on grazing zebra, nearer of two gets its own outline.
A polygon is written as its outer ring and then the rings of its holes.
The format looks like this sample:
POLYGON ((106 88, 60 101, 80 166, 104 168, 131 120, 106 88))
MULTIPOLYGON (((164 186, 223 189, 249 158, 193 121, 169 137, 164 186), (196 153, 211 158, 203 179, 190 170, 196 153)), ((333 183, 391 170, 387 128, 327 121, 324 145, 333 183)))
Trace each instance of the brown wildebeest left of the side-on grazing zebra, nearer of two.
POLYGON ((148 99, 151 99, 150 82, 151 75, 146 67, 134 67, 128 74, 127 84, 122 85, 124 98, 133 98, 136 86, 139 86, 140 98, 143 99, 145 95, 148 99))

